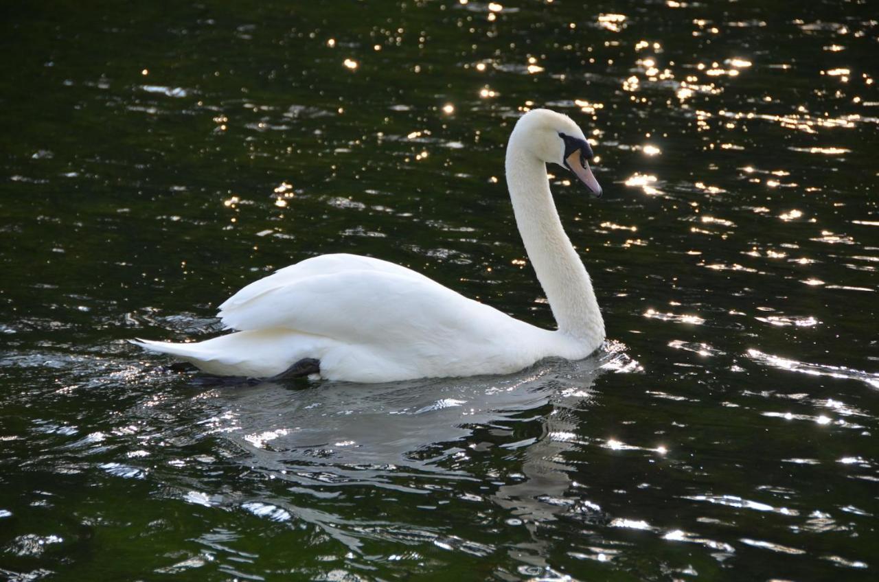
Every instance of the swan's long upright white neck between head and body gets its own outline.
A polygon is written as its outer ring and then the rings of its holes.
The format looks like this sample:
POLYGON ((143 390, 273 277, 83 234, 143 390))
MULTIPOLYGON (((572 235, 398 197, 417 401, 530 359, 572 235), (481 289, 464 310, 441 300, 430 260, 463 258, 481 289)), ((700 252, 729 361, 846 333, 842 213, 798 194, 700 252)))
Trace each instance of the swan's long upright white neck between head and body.
POLYGON ((506 149, 506 182, 519 234, 559 331, 592 342, 604 338, 604 320, 592 280, 562 228, 549 191, 546 164, 513 132, 506 149))

